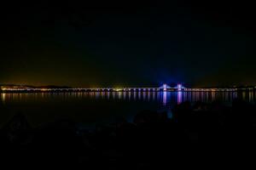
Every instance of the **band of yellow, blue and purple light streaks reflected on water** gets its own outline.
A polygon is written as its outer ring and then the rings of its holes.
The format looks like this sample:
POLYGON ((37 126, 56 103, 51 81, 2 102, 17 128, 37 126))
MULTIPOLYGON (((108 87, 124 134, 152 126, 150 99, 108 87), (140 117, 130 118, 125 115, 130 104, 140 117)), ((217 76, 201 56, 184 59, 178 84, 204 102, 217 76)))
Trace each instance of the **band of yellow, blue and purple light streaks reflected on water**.
POLYGON ((124 101, 157 102, 161 105, 180 104, 183 101, 212 102, 219 100, 231 102, 233 99, 243 99, 255 102, 255 92, 90 92, 90 93, 59 93, 59 94, 1 94, 0 102, 5 105, 12 102, 32 102, 47 99, 106 99, 124 101))

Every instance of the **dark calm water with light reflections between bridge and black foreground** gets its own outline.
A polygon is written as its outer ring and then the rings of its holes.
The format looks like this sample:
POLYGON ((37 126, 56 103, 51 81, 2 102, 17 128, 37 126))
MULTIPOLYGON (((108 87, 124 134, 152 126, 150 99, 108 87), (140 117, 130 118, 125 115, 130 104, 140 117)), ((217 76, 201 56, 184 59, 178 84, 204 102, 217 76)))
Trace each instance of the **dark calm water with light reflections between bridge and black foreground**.
POLYGON ((32 126, 68 118, 88 127, 96 123, 132 121, 139 111, 167 111, 183 101, 219 100, 230 105, 239 98, 255 102, 255 92, 91 92, 60 94, 0 94, 0 126, 17 112, 26 115, 32 126))

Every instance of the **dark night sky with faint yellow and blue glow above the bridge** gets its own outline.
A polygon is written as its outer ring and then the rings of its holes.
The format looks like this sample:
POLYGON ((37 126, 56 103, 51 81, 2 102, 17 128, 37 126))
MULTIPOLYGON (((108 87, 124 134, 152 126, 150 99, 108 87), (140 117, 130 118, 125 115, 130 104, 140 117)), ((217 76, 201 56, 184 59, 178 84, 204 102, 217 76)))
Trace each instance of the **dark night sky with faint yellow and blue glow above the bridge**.
POLYGON ((22 1, 0 19, 0 84, 256 84, 246 1, 22 1))

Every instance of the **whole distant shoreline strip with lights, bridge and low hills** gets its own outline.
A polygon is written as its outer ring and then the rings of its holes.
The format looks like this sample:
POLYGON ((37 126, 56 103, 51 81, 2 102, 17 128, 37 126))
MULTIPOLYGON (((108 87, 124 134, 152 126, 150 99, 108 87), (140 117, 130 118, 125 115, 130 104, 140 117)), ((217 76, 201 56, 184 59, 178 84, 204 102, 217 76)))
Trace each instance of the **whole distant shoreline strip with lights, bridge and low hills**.
POLYGON ((1 85, 0 93, 5 94, 24 94, 24 93, 88 93, 88 92, 237 92, 237 91, 255 91, 256 86, 240 87, 215 87, 215 88, 186 88, 182 84, 170 87, 163 84, 159 88, 71 88, 67 86, 28 86, 28 85, 1 85))

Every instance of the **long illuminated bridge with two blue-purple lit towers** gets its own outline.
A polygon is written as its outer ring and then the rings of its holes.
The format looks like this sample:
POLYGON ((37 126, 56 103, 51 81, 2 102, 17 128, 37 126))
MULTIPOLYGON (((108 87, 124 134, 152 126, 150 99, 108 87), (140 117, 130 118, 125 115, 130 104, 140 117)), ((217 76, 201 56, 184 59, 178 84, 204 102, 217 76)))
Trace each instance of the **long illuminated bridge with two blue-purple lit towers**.
POLYGON ((0 93, 61 93, 61 92, 232 92, 237 88, 185 88, 163 84, 159 88, 1 88, 0 93))

